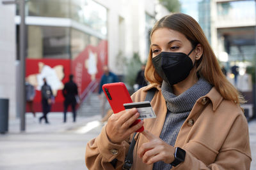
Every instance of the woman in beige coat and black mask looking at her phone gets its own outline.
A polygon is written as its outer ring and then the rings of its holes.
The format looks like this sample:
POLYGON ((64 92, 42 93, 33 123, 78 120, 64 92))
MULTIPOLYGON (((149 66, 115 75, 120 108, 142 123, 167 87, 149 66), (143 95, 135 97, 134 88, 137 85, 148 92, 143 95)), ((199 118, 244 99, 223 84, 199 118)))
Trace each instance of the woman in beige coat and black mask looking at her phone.
POLYGON ((89 169, 122 169, 132 134, 132 169, 250 169, 248 125, 243 98, 221 72, 200 25, 188 15, 161 18, 151 32, 145 69, 150 85, 132 95, 151 101, 157 118, 138 118, 136 109, 112 115, 100 135, 86 146, 89 169))

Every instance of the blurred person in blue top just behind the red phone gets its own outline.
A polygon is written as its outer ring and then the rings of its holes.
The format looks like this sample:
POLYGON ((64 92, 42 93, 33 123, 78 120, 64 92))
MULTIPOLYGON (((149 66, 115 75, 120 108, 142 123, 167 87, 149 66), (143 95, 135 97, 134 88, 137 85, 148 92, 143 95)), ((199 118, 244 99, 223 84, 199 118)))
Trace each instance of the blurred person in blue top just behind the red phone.
POLYGON ((107 102, 107 98, 104 95, 103 90, 102 90, 102 85, 106 84, 106 83, 115 83, 118 82, 118 77, 116 76, 116 74, 112 73, 111 71, 109 71, 108 66, 103 66, 103 71, 104 74, 102 75, 101 79, 100 79, 100 85, 99 85, 99 99, 101 101, 100 107, 101 107, 101 117, 104 118, 104 116, 106 115, 106 102, 107 102))

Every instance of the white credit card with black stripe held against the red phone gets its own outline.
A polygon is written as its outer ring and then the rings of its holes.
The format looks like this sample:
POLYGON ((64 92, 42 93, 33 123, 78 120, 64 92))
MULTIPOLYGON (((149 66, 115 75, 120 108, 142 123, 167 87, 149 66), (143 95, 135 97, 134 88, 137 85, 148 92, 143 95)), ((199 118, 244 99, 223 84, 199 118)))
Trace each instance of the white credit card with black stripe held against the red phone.
POLYGON ((124 108, 125 108, 125 110, 137 108, 138 112, 140 113, 140 117, 138 117, 138 119, 156 118, 156 114, 155 114, 154 110, 152 109, 149 101, 125 103, 124 108))

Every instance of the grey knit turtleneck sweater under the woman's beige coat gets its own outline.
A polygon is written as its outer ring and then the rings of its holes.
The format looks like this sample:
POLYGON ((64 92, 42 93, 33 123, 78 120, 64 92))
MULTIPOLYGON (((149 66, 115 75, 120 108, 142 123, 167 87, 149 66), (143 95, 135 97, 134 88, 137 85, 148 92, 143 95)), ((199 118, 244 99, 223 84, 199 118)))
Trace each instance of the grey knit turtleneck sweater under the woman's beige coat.
MULTIPOLYGON (((160 134, 160 138, 163 141, 174 146, 180 127, 188 117, 196 100, 205 96, 211 89, 212 85, 204 78, 200 78, 195 85, 179 96, 175 96, 172 93, 172 87, 163 81, 161 91, 167 106, 166 118, 160 134)), ((153 166, 154 170, 169 170, 171 168, 170 164, 165 164, 163 161, 156 162, 153 166)))

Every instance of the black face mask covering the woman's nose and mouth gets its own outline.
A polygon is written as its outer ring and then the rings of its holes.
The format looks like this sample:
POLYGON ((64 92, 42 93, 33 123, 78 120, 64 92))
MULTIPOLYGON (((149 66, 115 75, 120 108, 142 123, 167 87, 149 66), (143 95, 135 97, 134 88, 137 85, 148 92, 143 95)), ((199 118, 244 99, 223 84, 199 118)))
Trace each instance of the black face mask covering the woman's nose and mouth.
POLYGON ((194 49, 195 47, 188 55, 180 52, 161 52, 152 59, 156 72, 169 85, 186 79, 193 68, 193 62, 188 56, 194 49))

